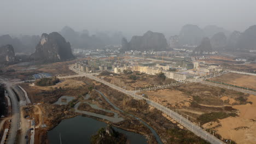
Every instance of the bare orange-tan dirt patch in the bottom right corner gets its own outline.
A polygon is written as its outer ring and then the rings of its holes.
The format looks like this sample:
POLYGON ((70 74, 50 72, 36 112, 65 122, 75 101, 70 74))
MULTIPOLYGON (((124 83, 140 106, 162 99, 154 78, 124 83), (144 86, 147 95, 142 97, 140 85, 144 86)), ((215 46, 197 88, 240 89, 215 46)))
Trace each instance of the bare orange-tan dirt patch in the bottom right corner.
POLYGON ((256 143, 256 95, 250 95, 247 101, 252 104, 232 106, 238 110, 238 117, 219 119, 221 126, 216 128, 218 134, 238 144, 256 143))

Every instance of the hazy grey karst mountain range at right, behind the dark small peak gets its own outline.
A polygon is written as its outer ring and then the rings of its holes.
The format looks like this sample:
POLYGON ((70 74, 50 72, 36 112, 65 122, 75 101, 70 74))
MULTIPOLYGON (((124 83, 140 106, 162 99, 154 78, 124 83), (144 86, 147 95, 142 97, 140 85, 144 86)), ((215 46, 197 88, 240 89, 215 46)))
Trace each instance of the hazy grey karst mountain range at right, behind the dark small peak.
POLYGON ((212 49, 219 50, 256 50, 256 25, 245 32, 229 32, 217 26, 206 26, 201 29, 196 25, 185 25, 179 35, 169 38, 171 48, 197 47, 203 38, 210 39, 212 49))

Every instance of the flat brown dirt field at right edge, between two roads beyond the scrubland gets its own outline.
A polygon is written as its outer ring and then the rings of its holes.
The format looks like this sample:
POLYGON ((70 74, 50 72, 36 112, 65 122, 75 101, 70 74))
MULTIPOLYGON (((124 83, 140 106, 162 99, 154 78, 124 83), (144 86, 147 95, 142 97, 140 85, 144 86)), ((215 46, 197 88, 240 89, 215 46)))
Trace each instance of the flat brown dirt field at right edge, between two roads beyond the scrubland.
POLYGON ((210 80, 256 89, 256 76, 229 73, 210 80))

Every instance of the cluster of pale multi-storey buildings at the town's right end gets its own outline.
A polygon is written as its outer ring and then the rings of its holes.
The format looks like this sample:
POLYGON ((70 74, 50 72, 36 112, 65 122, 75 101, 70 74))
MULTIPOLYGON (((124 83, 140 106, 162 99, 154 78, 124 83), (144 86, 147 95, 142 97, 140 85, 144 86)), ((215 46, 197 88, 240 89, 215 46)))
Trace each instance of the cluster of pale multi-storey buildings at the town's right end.
POLYGON ((203 73, 210 73, 210 72, 220 72, 223 70, 223 67, 220 67, 218 64, 210 64, 206 65, 203 62, 194 62, 194 70, 203 72, 203 73))

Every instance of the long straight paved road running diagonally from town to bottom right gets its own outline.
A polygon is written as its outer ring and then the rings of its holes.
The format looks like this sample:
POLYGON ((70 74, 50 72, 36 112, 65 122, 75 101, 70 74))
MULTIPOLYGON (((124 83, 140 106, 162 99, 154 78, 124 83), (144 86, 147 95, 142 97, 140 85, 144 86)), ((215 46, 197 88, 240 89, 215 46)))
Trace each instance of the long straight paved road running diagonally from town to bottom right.
MULTIPOLYGON (((210 133, 208 133, 207 131, 201 129, 200 127, 197 127, 194 123, 190 122, 189 120, 187 120, 186 118, 184 118, 183 116, 179 115, 178 113, 168 109, 165 106, 162 106, 158 103, 155 103, 152 100, 149 100, 147 98, 142 97, 141 95, 137 95, 135 92, 131 92, 131 91, 127 91, 126 89, 120 88, 118 86, 112 85, 112 83, 106 82, 102 79, 99 79, 98 77, 95 77, 93 74, 84 74, 78 70, 75 70, 72 66, 69 67, 71 70, 75 71, 75 73, 78 73, 78 75, 74 75, 72 77, 75 76, 86 76, 89 77, 90 79, 96 80, 98 82, 102 82, 104 85, 107 85, 109 87, 112 87, 114 89, 116 89, 117 91, 123 92, 127 95, 130 95, 131 97, 135 98, 135 99, 145 99, 147 100, 147 103, 149 105, 154 106, 156 109, 166 113, 166 115, 170 116, 171 118, 175 119, 177 122, 179 122, 180 124, 183 125, 183 127, 187 128, 188 130, 192 131, 195 135, 201 137, 202 139, 207 140, 210 143, 213 144, 220 144, 220 143, 224 143, 222 141, 220 141, 219 139, 217 139, 216 137, 212 136, 210 133)), ((66 76, 66 77, 60 77, 60 78, 68 78, 71 76, 66 76)))

